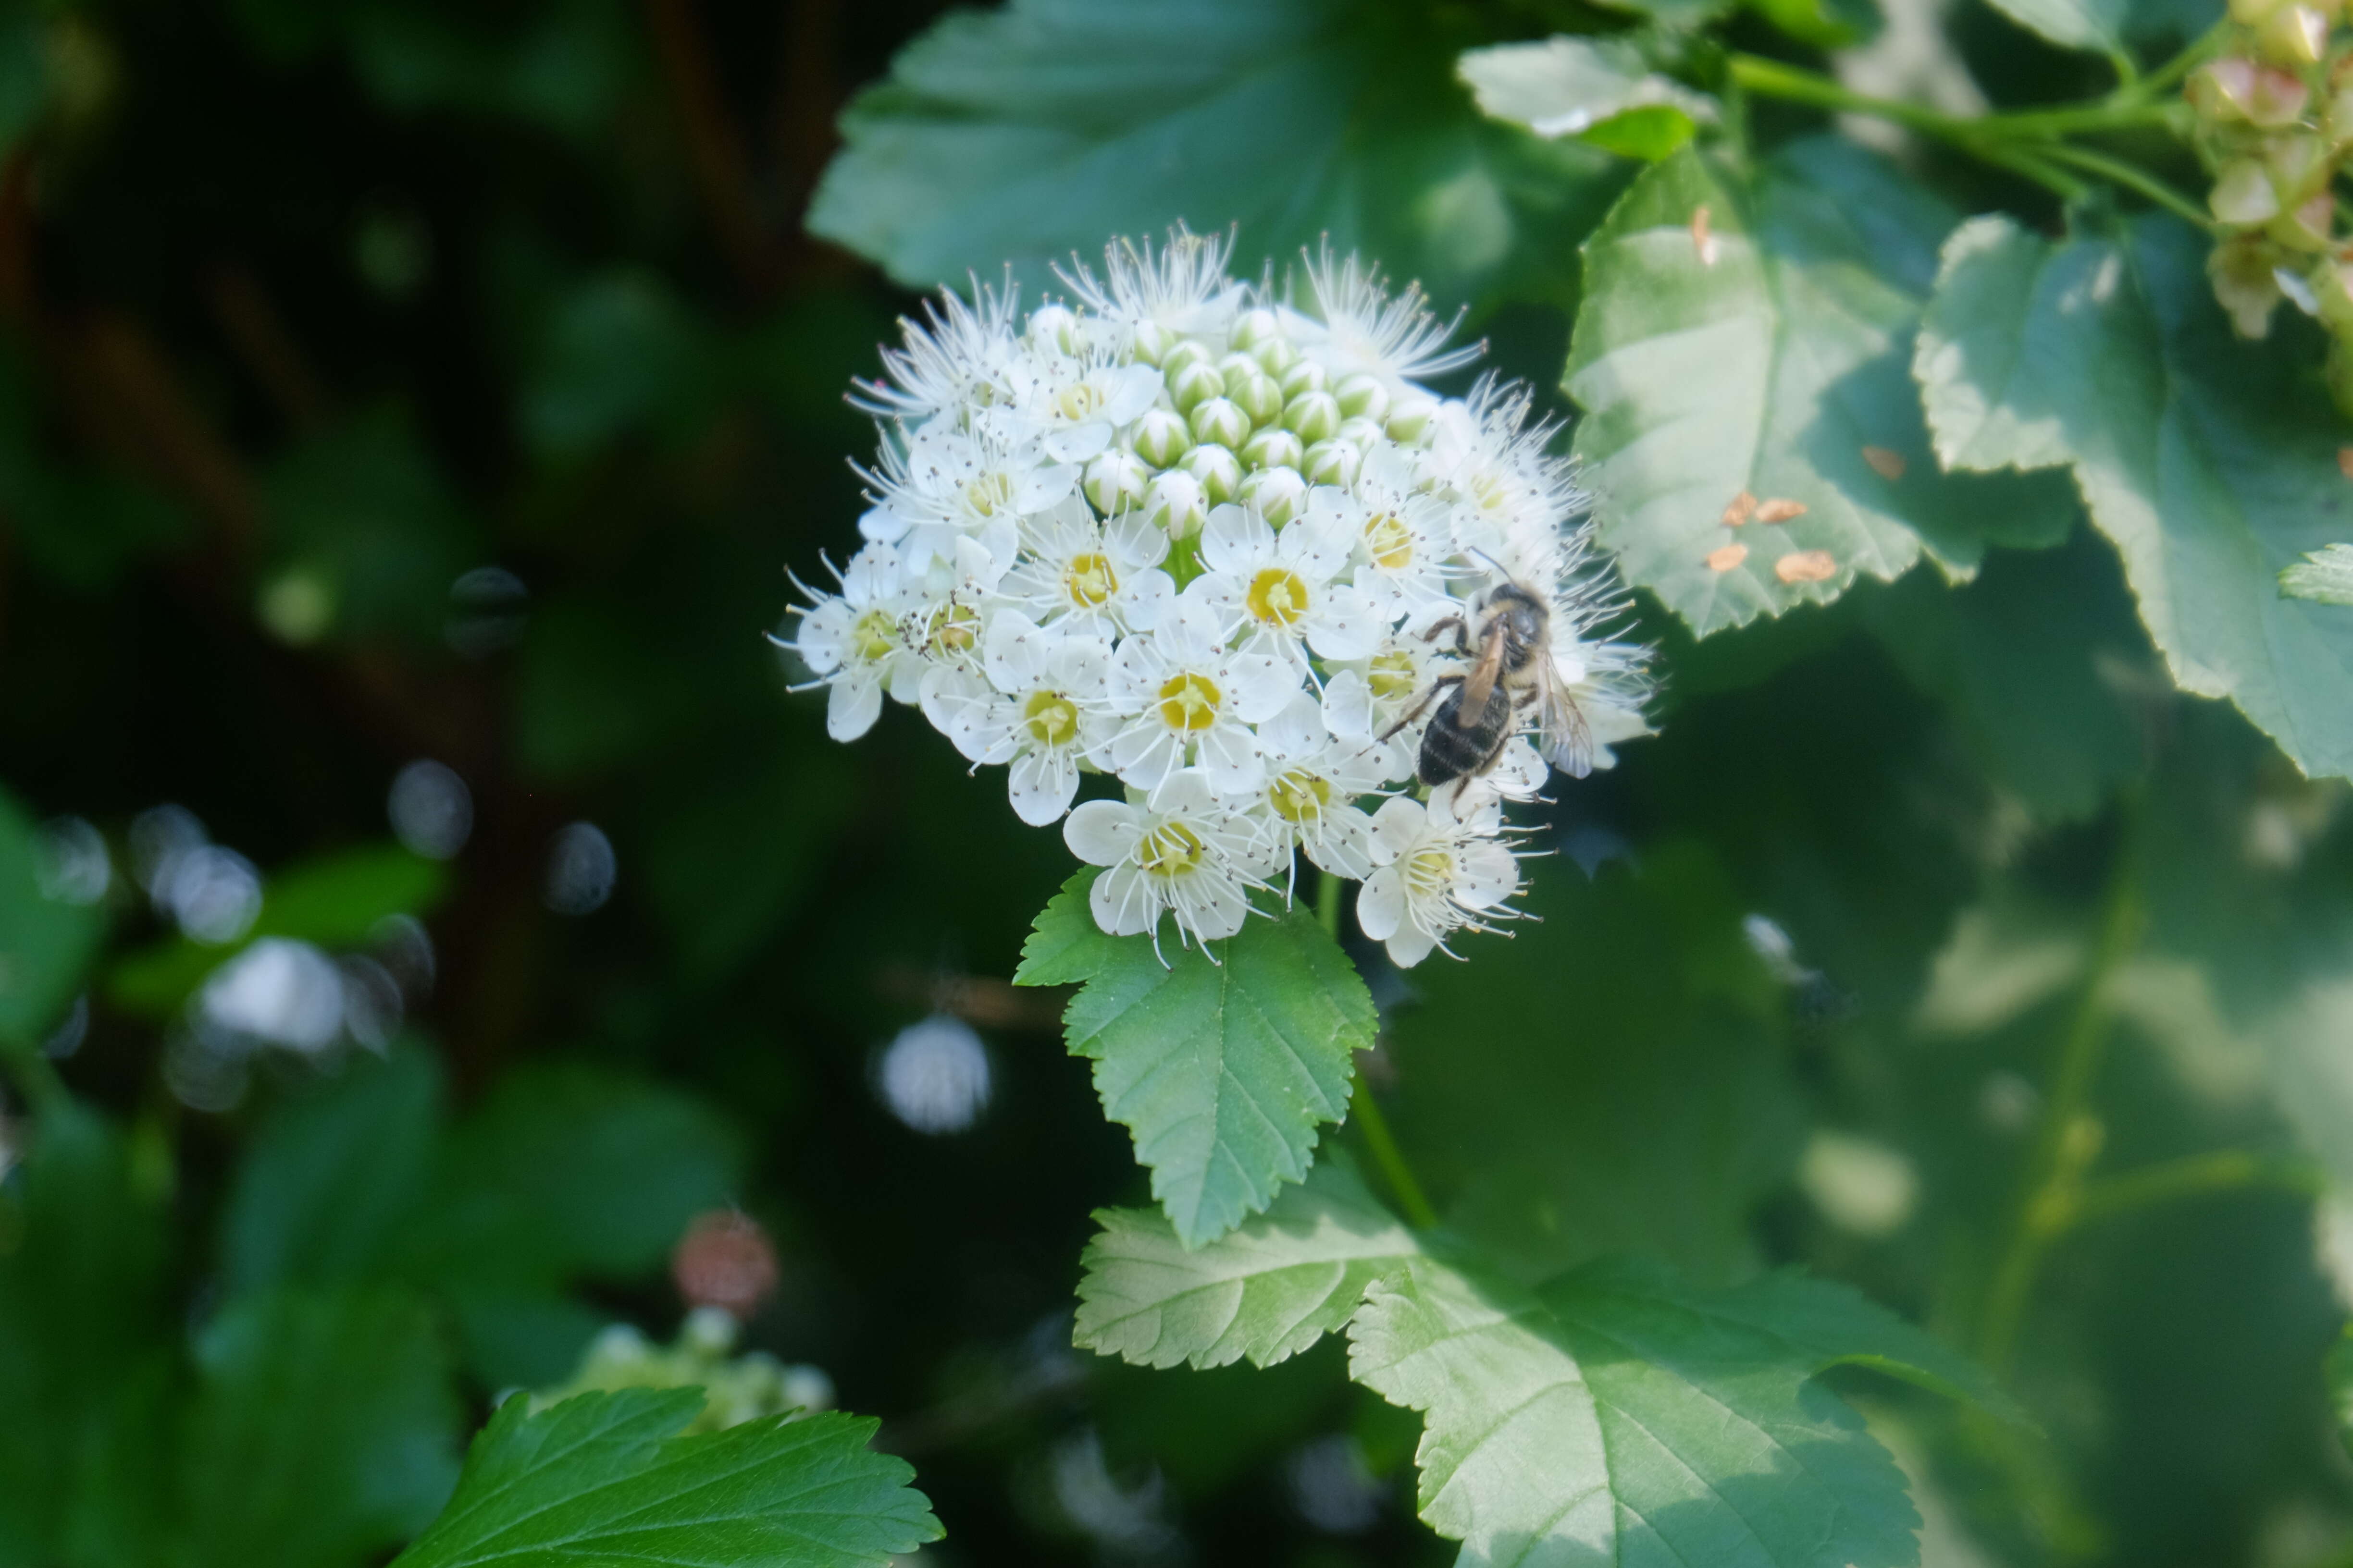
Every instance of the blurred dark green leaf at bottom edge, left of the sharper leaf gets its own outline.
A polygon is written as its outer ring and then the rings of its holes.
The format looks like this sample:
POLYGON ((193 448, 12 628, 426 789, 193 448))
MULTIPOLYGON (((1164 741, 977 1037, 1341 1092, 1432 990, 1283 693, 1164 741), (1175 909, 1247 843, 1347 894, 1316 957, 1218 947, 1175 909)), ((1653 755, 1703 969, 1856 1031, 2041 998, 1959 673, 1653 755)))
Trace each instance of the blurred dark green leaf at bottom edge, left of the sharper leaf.
POLYGON ((412 1537, 456 1481, 459 1410, 407 1291, 266 1291, 195 1345, 176 1528, 200 1568, 346 1568, 412 1537))

